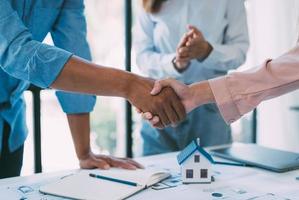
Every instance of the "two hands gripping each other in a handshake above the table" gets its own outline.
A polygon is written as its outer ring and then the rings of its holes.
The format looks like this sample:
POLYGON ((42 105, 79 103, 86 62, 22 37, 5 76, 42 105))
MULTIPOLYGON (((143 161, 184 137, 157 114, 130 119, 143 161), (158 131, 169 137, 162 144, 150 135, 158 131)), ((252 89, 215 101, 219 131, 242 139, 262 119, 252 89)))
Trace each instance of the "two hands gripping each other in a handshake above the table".
POLYGON ((155 128, 176 126, 194 108, 215 102, 208 81, 185 85, 169 78, 159 81, 138 77, 127 99, 155 128))

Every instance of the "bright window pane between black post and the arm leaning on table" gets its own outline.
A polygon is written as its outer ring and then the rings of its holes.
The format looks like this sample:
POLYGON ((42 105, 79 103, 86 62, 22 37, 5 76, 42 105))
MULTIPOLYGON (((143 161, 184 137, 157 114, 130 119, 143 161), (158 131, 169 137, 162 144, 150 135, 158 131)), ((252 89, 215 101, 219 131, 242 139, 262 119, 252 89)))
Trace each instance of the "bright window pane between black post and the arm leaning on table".
POLYGON ((53 90, 41 92, 43 172, 78 168, 66 115, 53 90))

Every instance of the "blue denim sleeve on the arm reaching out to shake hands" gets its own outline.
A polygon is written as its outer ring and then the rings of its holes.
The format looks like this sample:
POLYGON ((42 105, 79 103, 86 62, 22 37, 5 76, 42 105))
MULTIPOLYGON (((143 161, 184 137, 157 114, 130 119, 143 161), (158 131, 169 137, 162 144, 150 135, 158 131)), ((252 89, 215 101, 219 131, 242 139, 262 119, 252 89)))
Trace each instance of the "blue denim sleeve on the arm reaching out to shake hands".
POLYGON ((13 77, 47 88, 72 53, 32 39, 7 0, 0 1, 0 67, 13 77))

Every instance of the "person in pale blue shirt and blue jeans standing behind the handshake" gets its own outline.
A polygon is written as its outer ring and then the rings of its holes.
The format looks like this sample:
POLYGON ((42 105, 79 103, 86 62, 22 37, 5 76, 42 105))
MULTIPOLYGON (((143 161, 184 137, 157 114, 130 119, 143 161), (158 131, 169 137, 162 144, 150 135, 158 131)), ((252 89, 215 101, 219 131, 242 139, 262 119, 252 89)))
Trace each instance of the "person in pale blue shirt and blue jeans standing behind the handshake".
MULTIPOLYGON (((249 46, 243 0, 143 0, 135 26, 136 62, 154 79, 192 84, 239 67, 249 46), (185 35, 196 37, 185 51, 185 35)), ((155 129, 142 122, 143 154, 179 151, 194 138, 203 146, 231 142, 231 130, 214 104, 188 114, 176 127, 155 129)))

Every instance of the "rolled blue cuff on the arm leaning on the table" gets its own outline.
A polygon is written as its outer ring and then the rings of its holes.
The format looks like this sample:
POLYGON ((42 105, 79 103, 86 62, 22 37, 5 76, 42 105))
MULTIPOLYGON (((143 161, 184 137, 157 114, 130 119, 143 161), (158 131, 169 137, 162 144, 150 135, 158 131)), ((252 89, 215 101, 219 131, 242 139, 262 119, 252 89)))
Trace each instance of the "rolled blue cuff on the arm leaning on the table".
POLYGON ((92 95, 57 91, 56 96, 63 112, 67 114, 90 113, 96 102, 96 97, 92 95))

